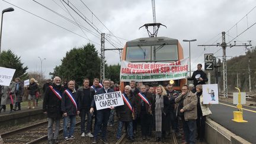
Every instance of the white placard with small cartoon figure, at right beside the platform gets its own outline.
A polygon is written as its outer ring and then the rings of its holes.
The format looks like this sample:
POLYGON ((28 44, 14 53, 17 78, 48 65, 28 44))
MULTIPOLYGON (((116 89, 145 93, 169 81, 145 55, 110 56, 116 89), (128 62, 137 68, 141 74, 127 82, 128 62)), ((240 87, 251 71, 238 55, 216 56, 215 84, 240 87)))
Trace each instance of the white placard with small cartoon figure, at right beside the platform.
POLYGON ((203 104, 219 104, 217 84, 203 85, 203 104))

